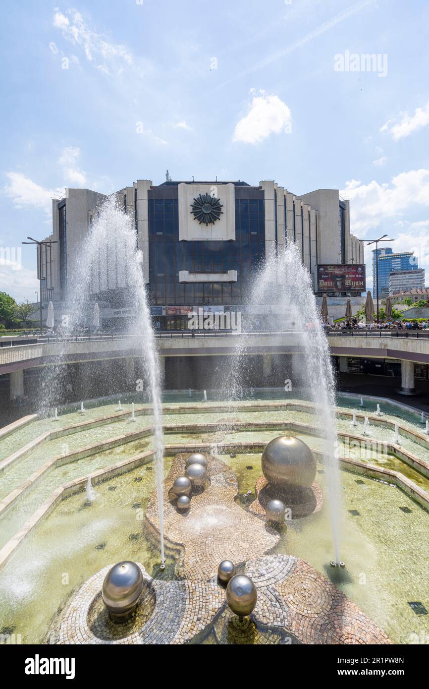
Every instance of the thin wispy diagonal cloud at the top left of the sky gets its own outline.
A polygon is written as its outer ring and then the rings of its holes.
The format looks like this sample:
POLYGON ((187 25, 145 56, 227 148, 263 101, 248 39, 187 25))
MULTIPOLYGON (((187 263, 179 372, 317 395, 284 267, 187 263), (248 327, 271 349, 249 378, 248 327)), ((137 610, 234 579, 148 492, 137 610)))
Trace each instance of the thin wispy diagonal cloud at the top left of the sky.
POLYGON ((120 43, 112 43, 107 37, 93 31, 80 12, 67 10, 70 19, 62 12, 54 13, 53 25, 61 31, 63 38, 79 46, 87 61, 105 74, 120 74, 123 65, 132 65, 131 52, 120 43))

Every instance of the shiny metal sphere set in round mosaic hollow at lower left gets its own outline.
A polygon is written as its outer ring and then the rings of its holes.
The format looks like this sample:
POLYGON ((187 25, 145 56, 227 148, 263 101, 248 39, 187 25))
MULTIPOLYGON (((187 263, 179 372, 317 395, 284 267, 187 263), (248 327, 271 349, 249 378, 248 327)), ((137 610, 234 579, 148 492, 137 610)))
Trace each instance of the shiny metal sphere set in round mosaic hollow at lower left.
POLYGON ((113 619, 126 619, 143 590, 143 574, 135 562, 118 562, 105 575, 101 595, 113 619))

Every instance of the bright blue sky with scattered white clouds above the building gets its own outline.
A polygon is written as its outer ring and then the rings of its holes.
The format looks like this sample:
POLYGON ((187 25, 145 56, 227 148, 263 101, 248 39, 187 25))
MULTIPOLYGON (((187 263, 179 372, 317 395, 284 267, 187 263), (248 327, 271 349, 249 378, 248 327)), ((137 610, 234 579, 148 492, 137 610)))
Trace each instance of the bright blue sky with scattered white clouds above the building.
POLYGON ((5 8, 0 291, 36 300, 35 250, 21 241, 50 234, 65 187, 109 194, 160 184, 167 169, 174 180, 273 179, 297 195, 339 189, 351 232, 415 251, 429 284, 427 1, 5 8))

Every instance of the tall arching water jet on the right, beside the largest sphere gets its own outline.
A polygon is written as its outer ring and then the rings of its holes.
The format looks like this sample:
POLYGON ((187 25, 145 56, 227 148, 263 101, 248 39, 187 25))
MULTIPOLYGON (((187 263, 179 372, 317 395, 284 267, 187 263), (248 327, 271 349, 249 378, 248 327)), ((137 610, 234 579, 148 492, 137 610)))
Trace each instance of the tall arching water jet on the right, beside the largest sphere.
MULTIPOLYGON (((328 341, 317 308, 311 276, 302 264, 300 254, 293 244, 278 248, 276 254, 266 257, 263 265, 253 276, 249 292, 249 308, 246 308, 246 332, 238 338, 238 356, 233 357, 229 377, 230 404, 238 399, 242 380, 250 378, 248 356, 245 356, 252 331, 258 331, 260 319, 264 329, 290 331, 299 352, 293 364, 293 383, 311 399, 325 438, 324 466, 328 487, 328 503, 331 511, 335 561, 339 562, 339 514, 340 491, 338 469, 337 427, 335 421, 335 382, 328 341), (253 319, 253 320, 252 320, 253 319)), ((250 345, 249 345, 250 346, 250 345)), ((284 373, 279 376, 285 375, 284 373)), ((279 382, 282 382, 279 378, 279 382)))

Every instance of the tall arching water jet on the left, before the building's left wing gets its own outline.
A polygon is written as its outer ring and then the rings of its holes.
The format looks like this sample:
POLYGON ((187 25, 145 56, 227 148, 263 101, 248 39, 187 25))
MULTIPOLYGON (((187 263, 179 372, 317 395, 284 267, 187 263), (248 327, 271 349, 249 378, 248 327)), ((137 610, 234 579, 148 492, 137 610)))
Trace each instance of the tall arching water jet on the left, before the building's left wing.
POLYGON ((118 208, 114 197, 100 207, 91 232, 81 246, 72 286, 74 291, 67 296, 67 306, 74 329, 92 318, 94 300, 102 303, 103 294, 114 294, 121 306, 127 307, 132 314, 127 322, 128 334, 136 337, 140 348, 154 416, 156 494, 161 566, 164 567, 164 447, 158 354, 146 299, 143 256, 136 246, 136 230, 132 219, 118 208))

